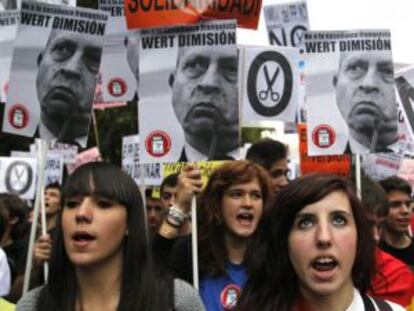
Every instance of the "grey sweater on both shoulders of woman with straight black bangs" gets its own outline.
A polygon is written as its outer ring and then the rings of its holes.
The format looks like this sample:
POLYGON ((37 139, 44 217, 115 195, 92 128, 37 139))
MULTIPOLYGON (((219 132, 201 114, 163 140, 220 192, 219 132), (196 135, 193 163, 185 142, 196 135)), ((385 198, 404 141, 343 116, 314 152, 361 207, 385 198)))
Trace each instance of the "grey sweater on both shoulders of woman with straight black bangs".
MULTIPOLYGON (((37 297, 42 287, 24 295, 16 305, 16 311, 35 311, 37 297)), ((174 279, 174 304, 176 311, 205 311, 197 290, 180 279, 174 279)))

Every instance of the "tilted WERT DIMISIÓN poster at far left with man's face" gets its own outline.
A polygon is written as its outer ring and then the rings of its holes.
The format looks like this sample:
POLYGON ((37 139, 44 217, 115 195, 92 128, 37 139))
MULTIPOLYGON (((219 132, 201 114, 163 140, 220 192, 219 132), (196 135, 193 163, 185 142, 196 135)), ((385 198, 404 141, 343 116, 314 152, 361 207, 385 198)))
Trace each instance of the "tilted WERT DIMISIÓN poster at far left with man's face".
POLYGON ((84 146, 108 14, 23 1, 3 131, 84 146))

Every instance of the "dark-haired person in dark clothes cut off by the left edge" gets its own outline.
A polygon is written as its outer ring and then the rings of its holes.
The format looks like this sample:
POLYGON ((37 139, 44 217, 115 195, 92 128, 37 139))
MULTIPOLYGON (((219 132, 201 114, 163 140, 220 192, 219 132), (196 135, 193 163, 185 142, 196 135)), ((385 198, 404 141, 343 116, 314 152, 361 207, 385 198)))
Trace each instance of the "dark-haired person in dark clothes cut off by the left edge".
POLYGON ((9 226, 1 240, 1 247, 6 252, 12 276, 12 288, 7 300, 17 302, 22 294, 29 247, 29 207, 17 195, 9 193, 0 194, 0 206, 7 211, 9 218, 9 226))

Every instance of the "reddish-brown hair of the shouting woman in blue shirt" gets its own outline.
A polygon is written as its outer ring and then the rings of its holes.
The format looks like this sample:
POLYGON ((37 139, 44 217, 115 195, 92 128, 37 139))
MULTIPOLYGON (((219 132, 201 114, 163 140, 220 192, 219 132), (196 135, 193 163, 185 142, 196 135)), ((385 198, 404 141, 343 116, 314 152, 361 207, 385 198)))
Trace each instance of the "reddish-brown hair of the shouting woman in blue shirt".
MULTIPOLYGON (((262 190, 263 206, 269 197, 267 173, 250 161, 227 162, 217 168, 202 192, 198 204, 198 240, 200 275, 226 275, 227 249, 224 244, 222 199, 231 186, 257 178, 262 190)), ((248 259, 245 258, 245 261, 248 259)))

